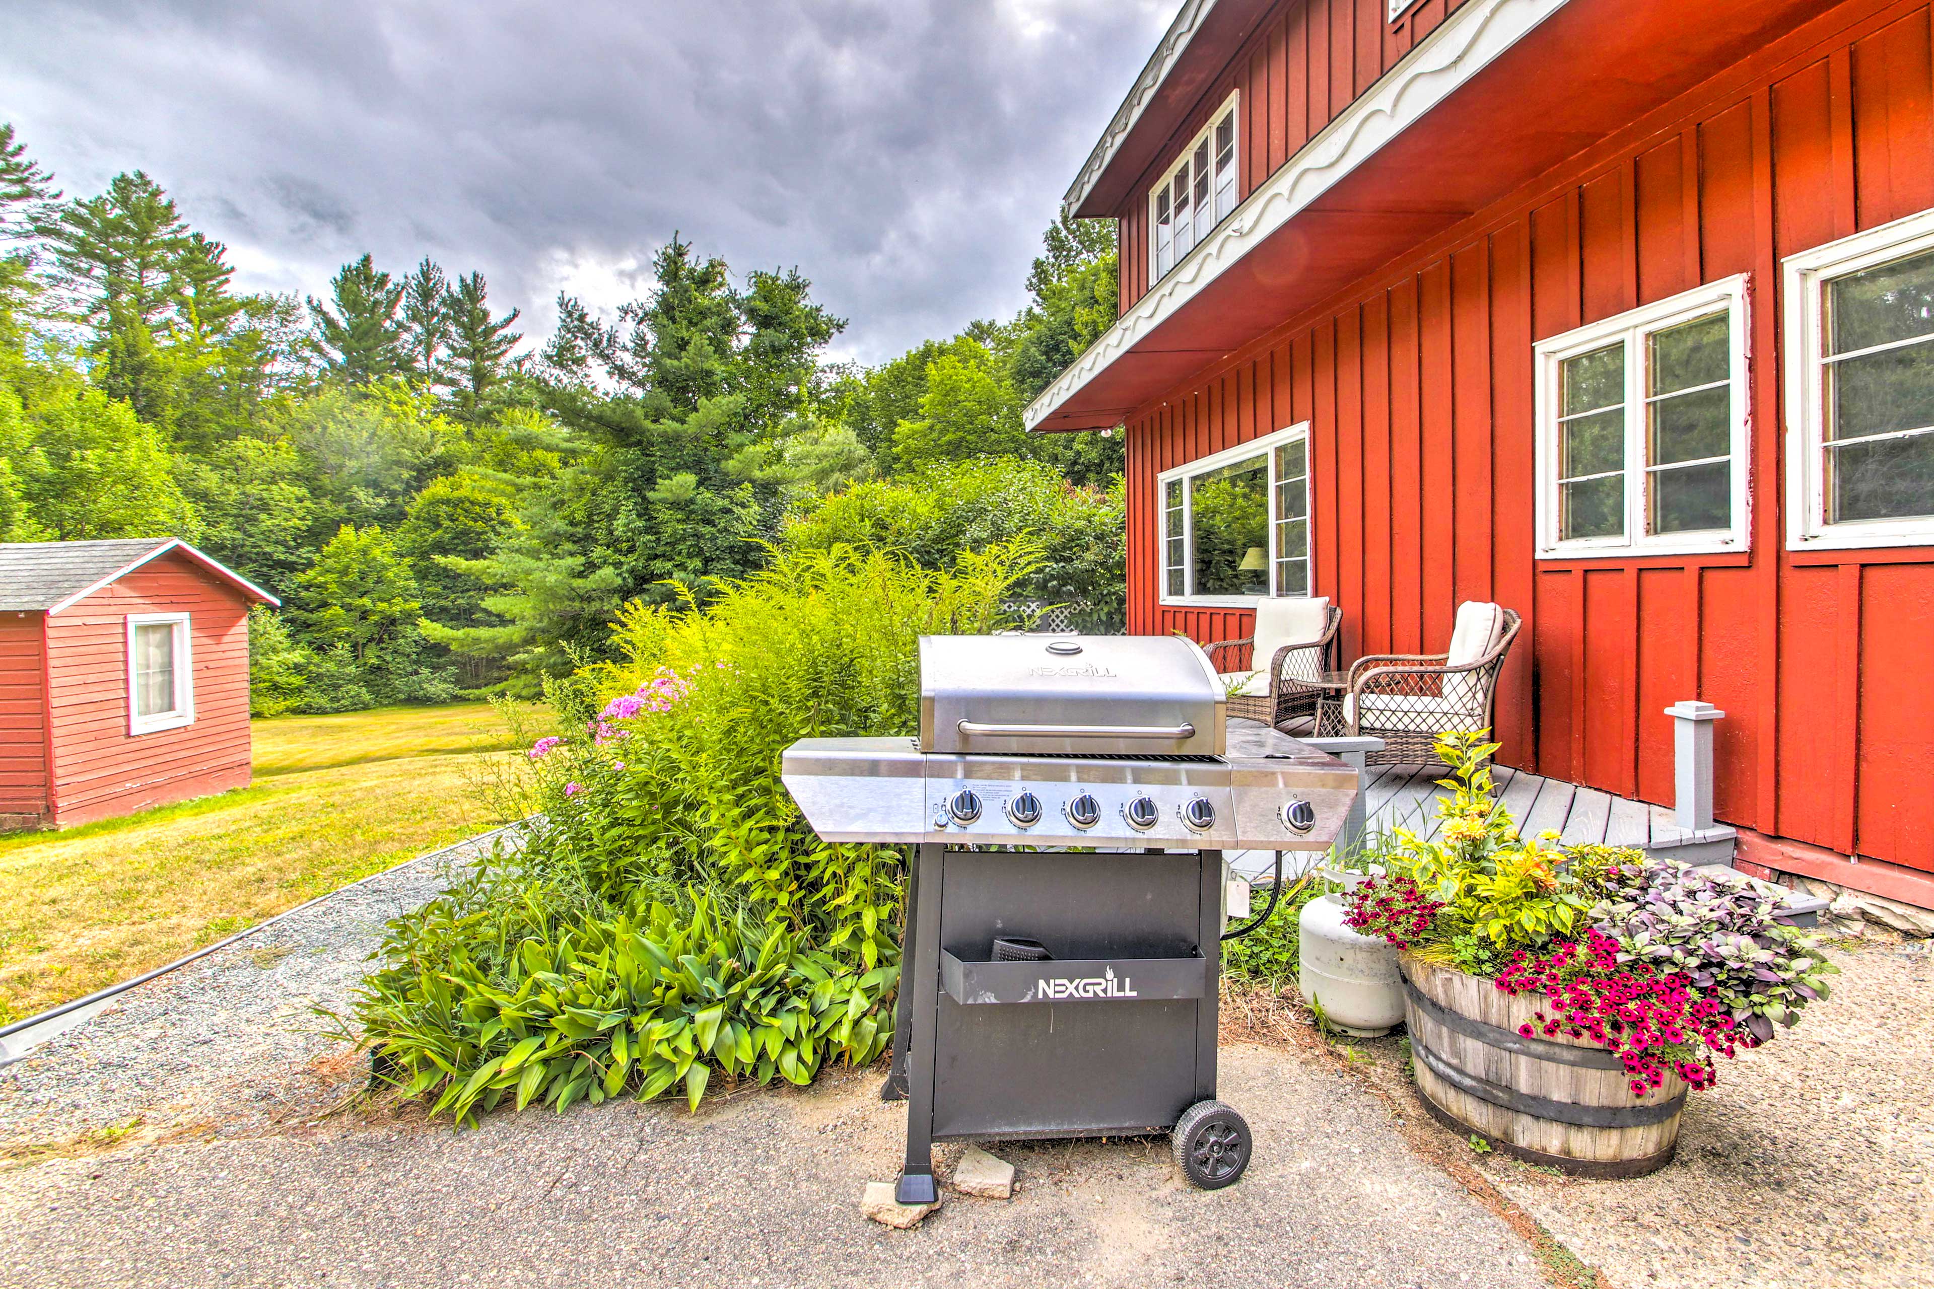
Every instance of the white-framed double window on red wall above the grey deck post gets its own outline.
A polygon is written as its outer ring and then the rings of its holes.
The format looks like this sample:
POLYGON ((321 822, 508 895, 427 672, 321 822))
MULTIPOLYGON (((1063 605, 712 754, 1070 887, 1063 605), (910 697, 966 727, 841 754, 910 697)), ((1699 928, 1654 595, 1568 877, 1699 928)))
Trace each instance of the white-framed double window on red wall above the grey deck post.
POLYGON ((1538 557, 1744 551, 1746 278, 1536 346, 1538 557))

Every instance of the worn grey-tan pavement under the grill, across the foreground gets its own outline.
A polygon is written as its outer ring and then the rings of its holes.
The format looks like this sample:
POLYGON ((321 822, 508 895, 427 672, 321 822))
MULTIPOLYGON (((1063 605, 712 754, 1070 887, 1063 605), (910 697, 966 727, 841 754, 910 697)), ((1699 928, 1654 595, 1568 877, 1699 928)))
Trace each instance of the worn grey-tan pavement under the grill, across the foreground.
POLYGON ((903 1107, 878 1073, 443 1127, 331 1121, 0 1175, 15 1285, 1408 1285, 1534 1289, 1528 1246, 1418 1160, 1381 1102, 1290 1053, 1222 1049, 1257 1154, 1189 1189, 1166 1140, 1004 1148, 1013 1200, 913 1231, 859 1214, 903 1107), (623 1277, 623 1279, 619 1279, 623 1277), (646 1279, 648 1277, 648 1279, 646 1279))

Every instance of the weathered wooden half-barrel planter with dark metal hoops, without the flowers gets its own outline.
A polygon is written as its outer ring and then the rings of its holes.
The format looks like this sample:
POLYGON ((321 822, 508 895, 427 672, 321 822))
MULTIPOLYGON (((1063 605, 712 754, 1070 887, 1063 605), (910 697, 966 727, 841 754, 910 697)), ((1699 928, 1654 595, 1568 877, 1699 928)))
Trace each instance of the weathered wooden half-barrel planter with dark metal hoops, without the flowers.
POLYGON ((1671 1161, 1686 1084, 1667 1073, 1634 1096, 1625 1065, 1597 1044, 1518 1034, 1551 1013, 1541 993, 1512 997, 1402 955, 1404 1024, 1423 1105, 1460 1136, 1580 1177, 1640 1177, 1671 1161))

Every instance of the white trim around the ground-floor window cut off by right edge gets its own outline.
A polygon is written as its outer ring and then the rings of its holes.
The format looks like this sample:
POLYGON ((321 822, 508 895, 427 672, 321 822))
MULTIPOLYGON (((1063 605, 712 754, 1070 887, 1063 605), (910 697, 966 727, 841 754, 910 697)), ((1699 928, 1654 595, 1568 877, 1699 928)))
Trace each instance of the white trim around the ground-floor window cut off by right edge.
POLYGON ((1934 545, 1934 516, 1826 522, 1826 404, 1820 385, 1826 342, 1824 286, 1934 247, 1934 211, 1909 215, 1839 242, 1789 255, 1785 272, 1787 358, 1787 549, 1859 551, 1934 545))

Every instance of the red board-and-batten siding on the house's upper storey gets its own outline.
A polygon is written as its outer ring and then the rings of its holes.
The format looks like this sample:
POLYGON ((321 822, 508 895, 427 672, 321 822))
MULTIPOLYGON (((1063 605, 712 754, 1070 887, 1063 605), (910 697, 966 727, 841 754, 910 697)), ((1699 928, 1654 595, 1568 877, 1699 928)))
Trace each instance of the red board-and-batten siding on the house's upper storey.
POLYGON ((1394 21, 1391 0, 1275 6, 1135 180, 1128 215, 1116 224, 1122 307, 1149 292, 1149 191, 1230 91, 1238 93, 1236 195, 1245 199, 1464 2, 1420 0, 1394 21))

